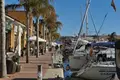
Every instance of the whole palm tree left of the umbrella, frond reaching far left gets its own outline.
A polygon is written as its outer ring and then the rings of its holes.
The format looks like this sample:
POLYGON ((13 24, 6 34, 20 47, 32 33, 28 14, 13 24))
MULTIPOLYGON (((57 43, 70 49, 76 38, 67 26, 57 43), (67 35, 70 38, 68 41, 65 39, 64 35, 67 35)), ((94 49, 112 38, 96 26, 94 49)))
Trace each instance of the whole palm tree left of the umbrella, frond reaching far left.
POLYGON ((36 6, 38 3, 38 0, 24 0, 24 2, 20 4, 10 4, 6 5, 6 9, 16 9, 19 7, 24 7, 26 10, 26 26, 27 26, 27 54, 26 54, 26 63, 29 63, 29 53, 30 53, 30 47, 29 47, 29 16, 32 13, 32 8, 36 6))

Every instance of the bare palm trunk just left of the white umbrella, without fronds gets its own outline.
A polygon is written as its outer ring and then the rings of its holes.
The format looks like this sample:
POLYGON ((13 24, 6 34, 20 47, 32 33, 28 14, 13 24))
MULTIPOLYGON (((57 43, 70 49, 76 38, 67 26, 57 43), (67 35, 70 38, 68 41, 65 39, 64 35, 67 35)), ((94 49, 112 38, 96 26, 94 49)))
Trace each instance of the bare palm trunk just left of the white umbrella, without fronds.
POLYGON ((29 14, 30 12, 26 11, 26 17, 27 17, 27 53, 26 53, 26 63, 29 63, 29 53, 30 53, 30 46, 29 46, 29 14))

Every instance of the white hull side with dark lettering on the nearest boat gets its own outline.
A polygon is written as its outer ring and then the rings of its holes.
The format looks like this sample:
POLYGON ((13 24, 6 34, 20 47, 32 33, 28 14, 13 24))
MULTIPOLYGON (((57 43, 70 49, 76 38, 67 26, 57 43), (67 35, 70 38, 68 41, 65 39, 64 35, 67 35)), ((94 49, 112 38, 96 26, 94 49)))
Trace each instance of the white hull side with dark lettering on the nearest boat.
POLYGON ((115 72, 115 66, 92 66, 85 69, 79 77, 90 80, 110 80, 115 72))

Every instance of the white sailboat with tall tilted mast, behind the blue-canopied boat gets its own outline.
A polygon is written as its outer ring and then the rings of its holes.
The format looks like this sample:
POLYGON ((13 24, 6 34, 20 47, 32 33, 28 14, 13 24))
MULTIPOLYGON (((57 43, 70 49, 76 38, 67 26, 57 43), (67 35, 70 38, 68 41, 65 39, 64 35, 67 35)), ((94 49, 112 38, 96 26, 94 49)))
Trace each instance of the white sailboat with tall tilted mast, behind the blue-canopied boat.
POLYGON ((90 1, 91 0, 87 1, 86 11, 85 11, 84 17, 82 19, 82 23, 81 23, 80 31, 78 34, 78 39, 77 39, 76 45, 74 47, 73 55, 69 56, 69 64, 70 64, 72 71, 78 71, 83 65, 85 65, 87 63, 87 60, 86 60, 86 56, 87 56, 86 51, 87 50, 85 48, 86 48, 86 45, 90 42, 82 39, 80 37, 80 34, 82 32, 83 24, 87 17, 87 14, 88 14, 90 1), (80 47, 78 47, 78 46, 80 46, 80 47), (77 63, 77 65, 76 65, 76 63, 77 63))

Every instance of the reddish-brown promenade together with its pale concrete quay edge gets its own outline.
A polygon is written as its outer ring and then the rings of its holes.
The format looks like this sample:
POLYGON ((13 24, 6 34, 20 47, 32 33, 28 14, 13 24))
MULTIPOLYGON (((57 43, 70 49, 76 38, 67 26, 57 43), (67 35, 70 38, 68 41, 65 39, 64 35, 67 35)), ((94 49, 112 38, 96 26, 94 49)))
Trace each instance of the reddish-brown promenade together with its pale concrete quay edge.
POLYGON ((51 64, 52 61, 52 53, 47 52, 44 55, 40 55, 39 58, 36 56, 30 56, 29 63, 25 62, 25 56, 20 59, 21 71, 15 74, 8 75, 8 78, 1 78, 0 80, 37 80, 37 66, 42 65, 42 75, 43 80, 51 79, 57 77, 63 77, 63 69, 62 68, 53 68, 51 64))

